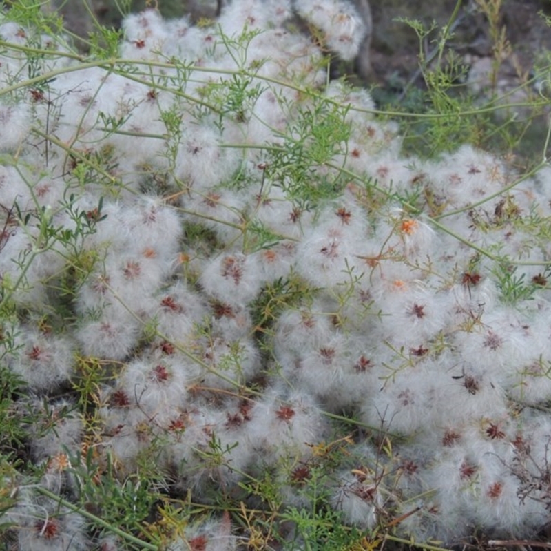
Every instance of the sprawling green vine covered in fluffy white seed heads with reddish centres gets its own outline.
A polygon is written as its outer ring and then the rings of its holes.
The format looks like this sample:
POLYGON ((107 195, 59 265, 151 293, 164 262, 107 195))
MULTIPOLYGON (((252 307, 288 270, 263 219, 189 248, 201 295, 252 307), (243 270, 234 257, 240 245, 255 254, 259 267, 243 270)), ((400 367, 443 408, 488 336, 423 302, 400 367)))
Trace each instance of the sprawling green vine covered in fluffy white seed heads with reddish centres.
POLYGON ((2 513, 21 548, 442 551, 541 528, 551 125, 522 174, 464 141, 548 101, 447 93, 460 10, 417 113, 331 81, 326 52, 365 31, 343 1, 234 1, 210 27, 147 10, 86 57, 39 11, 40 31, 3 14, 0 475, 34 481, 2 513))

